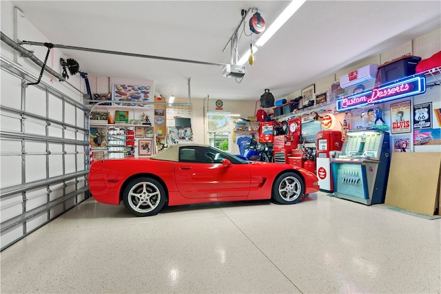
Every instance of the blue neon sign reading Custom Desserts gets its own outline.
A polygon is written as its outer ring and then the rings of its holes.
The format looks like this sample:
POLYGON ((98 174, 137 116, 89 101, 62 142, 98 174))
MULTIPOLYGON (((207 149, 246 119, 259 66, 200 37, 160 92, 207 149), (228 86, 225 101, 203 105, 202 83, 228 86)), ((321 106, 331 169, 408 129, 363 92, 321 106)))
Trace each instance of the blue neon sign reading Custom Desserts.
POLYGON ((426 92, 426 77, 413 76, 397 83, 358 92, 337 101, 337 111, 365 107, 367 105, 423 94, 426 92))

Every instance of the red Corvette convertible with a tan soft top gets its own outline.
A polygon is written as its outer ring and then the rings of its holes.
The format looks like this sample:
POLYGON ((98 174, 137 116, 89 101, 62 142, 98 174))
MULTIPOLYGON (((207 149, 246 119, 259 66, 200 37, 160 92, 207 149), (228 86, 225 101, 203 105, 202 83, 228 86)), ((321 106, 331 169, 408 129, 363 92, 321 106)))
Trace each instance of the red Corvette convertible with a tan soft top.
POLYGON ((165 205, 270 198, 292 204, 319 189, 306 169, 249 162, 198 144, 172 145, 150 158, 95 161, 88 180, 96 201, 122 200, 135 216, 153 216, 165 205))

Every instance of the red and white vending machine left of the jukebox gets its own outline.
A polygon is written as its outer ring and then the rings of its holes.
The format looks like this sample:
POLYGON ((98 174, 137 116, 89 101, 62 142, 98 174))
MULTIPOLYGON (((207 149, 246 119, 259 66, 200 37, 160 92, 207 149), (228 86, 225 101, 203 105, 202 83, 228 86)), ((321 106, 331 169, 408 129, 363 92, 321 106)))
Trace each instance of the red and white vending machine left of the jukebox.
POLYGON ((330 152, 340 151, 342 145, 342 132, 340 131, 320 131, 317 133, 316 172, 320 191, 334 192, 330 152))

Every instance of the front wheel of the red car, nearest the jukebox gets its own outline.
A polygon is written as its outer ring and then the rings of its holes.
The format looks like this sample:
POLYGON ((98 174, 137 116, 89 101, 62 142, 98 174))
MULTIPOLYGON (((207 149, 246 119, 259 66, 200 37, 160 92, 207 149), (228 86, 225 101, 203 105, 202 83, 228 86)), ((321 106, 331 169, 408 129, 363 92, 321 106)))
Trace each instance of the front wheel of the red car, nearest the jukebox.
POLYGON ((299 202, 305 193, 305 183, 298 174, 285 173, 274 181, 272 198, 280 204, 299 202))

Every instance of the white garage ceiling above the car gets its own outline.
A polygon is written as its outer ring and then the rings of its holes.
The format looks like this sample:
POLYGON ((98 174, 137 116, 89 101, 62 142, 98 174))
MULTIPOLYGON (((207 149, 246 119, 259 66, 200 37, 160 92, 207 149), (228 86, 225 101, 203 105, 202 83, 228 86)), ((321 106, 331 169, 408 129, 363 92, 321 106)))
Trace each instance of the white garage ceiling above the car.
MULTIPOLYGON (((258 8, 266 27, 289 1, 11 1, 51 43, 173 59, 230 63, 223 49, 240 11, 258 8)), ((257 34, 240 28, 239 57, 257 34), (242 33, 243 32, 243 33, 242 33)), ((241 81, 219 65, 62 49, 89 76, 150 79, 155 90, 187 98, 275 98, 441 27, 441 2, 308 0, 247 64, 241 81), (188 87, 188 80, 190 87, 188 87)), ((45 40, 26 40, 44 42, 45 40)), ((31 46, 32 47, 32 46, 31 46)))

